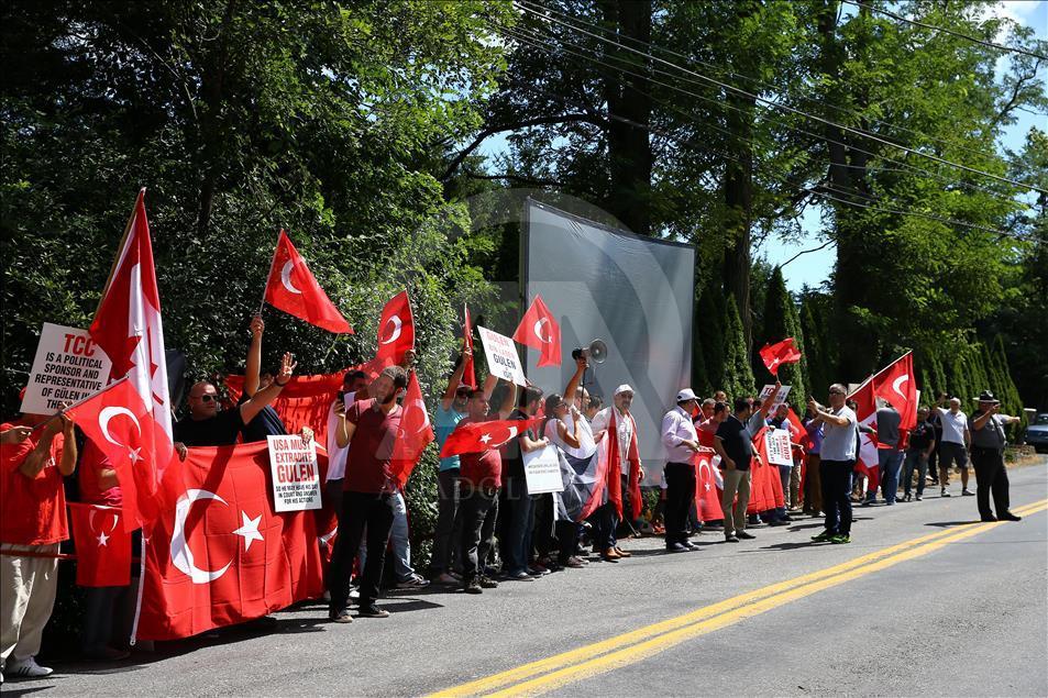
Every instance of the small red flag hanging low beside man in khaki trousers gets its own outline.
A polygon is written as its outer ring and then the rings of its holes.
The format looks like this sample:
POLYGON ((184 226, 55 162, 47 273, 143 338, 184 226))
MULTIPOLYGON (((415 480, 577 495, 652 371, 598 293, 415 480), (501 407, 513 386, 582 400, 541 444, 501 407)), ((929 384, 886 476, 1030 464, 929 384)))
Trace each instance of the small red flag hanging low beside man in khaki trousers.
POLYGON ((76 583, 81 587, 131 584, 131 533, 117 507, 69 503, 76 544, 76 583))

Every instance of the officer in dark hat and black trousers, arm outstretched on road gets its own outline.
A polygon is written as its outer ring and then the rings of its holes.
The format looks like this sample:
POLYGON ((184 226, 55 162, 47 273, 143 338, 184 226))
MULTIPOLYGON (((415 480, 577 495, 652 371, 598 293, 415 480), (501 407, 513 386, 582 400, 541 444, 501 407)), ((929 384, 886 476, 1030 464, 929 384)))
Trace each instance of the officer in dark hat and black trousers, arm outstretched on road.
POLYGON ((979 410, 972 414, 972 465, 975 467, 975 501, 983 521, 1018 521, 1008 511, 1008 474, 1004 467, 1004 446, 1007 440, 1004 426, 1019 421, 1018 417, 1001 414, 1001 400, 989 390, 979 395, 979 410), (990 511, 990 490, 993 490, 994 517, 990 511))

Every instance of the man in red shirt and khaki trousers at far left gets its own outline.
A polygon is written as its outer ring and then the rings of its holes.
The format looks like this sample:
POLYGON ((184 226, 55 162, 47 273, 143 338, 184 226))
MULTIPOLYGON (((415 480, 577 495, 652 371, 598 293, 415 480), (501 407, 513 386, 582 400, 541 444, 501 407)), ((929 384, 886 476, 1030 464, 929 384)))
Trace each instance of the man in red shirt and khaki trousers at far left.
POLYGON ((38 677, 52 673, 35 656, 55 606, 58 544, 69 538, 62 478, 76 467, 76 441, 60 412, 25 414, 0 431, 12 426, 38 429, 0 445, 0 671, 38 677))

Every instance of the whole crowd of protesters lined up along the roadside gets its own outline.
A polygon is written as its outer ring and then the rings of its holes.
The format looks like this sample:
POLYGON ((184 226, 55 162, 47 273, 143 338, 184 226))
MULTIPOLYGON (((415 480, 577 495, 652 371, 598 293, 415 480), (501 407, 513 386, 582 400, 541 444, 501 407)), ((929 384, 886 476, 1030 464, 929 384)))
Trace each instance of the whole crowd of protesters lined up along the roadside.
MULTIPOLYGON (((252 321, 251 331, 245 386, 238 403, 223 409, 219 387, 211 381, 189 389, 187 414, 174 431, 180 457, 189 447, 254 442, 286 432, 273 402, 291 378, 294 359, 286 354, 279 367, 262 370, 261 318, 252 321)), ((664 535, 668 553, 691 553, 698 550, 694 536, 704 530, 717 531, 726 544, 738 544, 754 539, 755 528, 787 525, 794 517, 807 516, 824 520, 825 530, 814 541, 843 544, 851 540, 853 502, 920 501, 927 485, 949 497, 952 467, 960 473, 961 496, 977 496, 983 520, 1018 520, 1008 509, 1003 463, 1003 426, 1016 418, 1000 414, 999 401, 990 392, 980 396, 979 410, 971 417, 960 410, 957 398, 938 396, 934 406, 920 408, 917 426, 908 433, 898 429, 898 412, 883 407, 875 423, 880 478, 865 485, 865 478, 856 477, 856 465, 862 432, 873 426, 859 424, 840 384, 829 387, 828 405, 807 400, 799 428, 790 419, 788 403, 775 407, 774 391, 759 400, 724 391, 700 398, 684 388, 673 397, 661 432, 638 434, 630 414, 632 388, 617 387, 607 405, 589 395, 582 385, 588 367, 584 353, 563 392, 552 394, 533 385, 518 389, 494 376, 479 387, 463 385, 468 350, 460 356, 432 414, 438 446, 471 423, 508 419, 527 421, 529 428, 499 447, 440 459, 437 525, 424 576, 412 566, 405 494, 389 470, 404 411, 399 398, 413 369, 413 352, 373 379, 361 370, 345 373, 341 389, 331 396, 327 443, 320 445, 328 457, 324 501, 339 521, 327 573, 332 621, 351 622, 354 602, 356 617, 388 616, 378 605, 387 550, 397 588, 432 585, 482 594, 503 583, 529 583, 591 562, 618 563, 630 557, 620 541, 642 534, 664 535), (533 421, 540 413, 541 421, 533 421), (765 426, 791 431, 793 463, 775 466, 783 506, 748 513, 751 472, 760 458, 753 437, 765 426), (596 494, 598 506, 588 517, 565 518, 554 495, 528 492, 525 454, 553 445, 565 457, 586 458, 605 439, 616 440, 617 462, 609 465, 603 490, 596 494), (632 501, 638 490, 631 483, 646 476, 639 440, 661 442, 666 462, 661 473, 647 473, 649 483, 658 483, 658 503, 635 516, 642 508, 632 501), (695 503, 693 456, 703 448, 716 453, 722 480, 721 516, 713 520, 703 520, 695 503), (968 488, 969 457, 977 475, 975 494, 968 488), (620 492, 621 519, 609 490, 620 492)), ((35 656, 54 607, 58 546, 68 539, 65 480, 76 472, 77 498, 109 506, 119 506, 121 488, 114 470, 90 442, 77 437, 65 416, 22 414, 0 431, 0 657, 5 676, 46 676, 52 669, 37 664, 35 656)), ((312 437, 308 428, 301 433, 305 440, 312 437)), ((133 587, 89 590, 80 636, 85 657, 126 656, 133 597, 133 587)))

